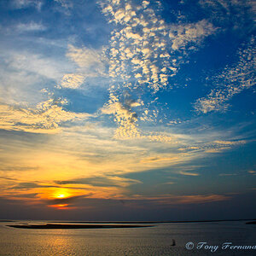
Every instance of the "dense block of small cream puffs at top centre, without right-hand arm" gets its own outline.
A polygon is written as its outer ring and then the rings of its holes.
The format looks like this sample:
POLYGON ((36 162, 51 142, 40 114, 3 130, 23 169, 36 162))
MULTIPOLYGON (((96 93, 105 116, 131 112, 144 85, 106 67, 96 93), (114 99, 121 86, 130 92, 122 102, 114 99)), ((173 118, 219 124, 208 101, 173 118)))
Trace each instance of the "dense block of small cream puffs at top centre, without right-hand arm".
POLYGON ((110 39, 110 76, 125 82, 136 76, 138 84, 147 83, 154 91, 166 86, 167 73, 171 74, 172 69, 167 69, 170 55, 166 49, 164 21, 153 9, 140 9, 131 1, 125 3, 124 8, 113 2, 102 3, 102 12, 110 22, 120 25, 110 39), (159 61, 160 56, 165 70, 152 64, 159 61))

